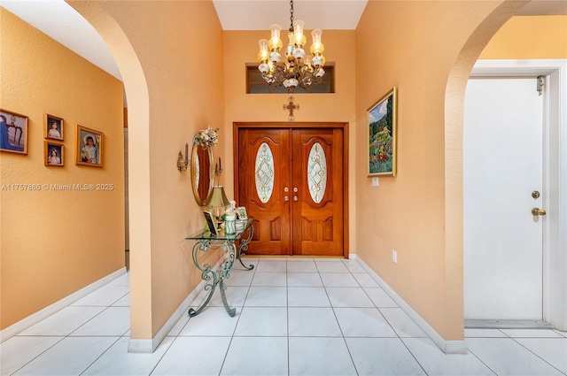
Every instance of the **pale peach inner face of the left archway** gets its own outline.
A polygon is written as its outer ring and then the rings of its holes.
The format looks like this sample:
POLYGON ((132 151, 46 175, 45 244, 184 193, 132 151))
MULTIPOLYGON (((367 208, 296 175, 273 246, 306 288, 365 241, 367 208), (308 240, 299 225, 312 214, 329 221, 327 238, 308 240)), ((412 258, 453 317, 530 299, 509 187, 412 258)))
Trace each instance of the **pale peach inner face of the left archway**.
POLYGON ((150 104, 142 65, 116 21, 98 2, 68 1, 95 27, 120 69, 128 98, 128 200, 131 338, 151 338, 150 104))

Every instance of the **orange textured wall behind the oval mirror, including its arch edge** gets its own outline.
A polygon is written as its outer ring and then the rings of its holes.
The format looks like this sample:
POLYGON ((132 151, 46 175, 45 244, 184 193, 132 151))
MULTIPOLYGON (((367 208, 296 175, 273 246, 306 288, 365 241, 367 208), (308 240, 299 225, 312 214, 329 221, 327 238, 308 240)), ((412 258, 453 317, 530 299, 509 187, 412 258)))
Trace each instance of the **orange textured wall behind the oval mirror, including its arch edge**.
MULTIPOLYGON (((204 218, 190 173, 179 173, 176 161, 208 125, 221 127, 214 156, 225 157, 221 24, 210 1, 69 4, 105 38, 123 72, 130 205, 139 203, 130 219, 131 338, 147 340, 201 280, 185 236, 204 218)), ((217 250, 201 261, 214 265, 217 250)))

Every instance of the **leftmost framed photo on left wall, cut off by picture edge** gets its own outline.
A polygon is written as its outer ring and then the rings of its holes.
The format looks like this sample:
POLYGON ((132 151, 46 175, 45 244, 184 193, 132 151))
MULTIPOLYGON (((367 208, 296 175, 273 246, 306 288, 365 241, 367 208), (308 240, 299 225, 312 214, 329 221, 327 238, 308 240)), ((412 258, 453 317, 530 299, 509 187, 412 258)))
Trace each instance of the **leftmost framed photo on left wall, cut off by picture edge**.
POLYGON ((27 116, 0 109, 0 151, 27 155, 27 116))

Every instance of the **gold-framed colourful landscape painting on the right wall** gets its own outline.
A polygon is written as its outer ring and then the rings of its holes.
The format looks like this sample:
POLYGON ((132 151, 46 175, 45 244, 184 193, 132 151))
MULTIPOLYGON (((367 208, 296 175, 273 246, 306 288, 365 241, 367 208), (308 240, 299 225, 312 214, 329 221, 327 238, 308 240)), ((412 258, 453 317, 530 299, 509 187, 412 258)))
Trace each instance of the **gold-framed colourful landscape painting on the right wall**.
POLYGON ((396 176, 397 88, 393 87, 367 110, 368 176, 396 176))

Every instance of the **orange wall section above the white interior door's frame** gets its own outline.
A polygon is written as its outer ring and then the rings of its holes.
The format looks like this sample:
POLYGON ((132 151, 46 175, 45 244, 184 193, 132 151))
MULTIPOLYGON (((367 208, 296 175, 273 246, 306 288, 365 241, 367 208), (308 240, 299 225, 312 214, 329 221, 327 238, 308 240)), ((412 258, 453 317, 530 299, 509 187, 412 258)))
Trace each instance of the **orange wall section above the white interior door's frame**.
POLYGON ((567 16, 512 17, 479 58, 567 58, 567 16))

